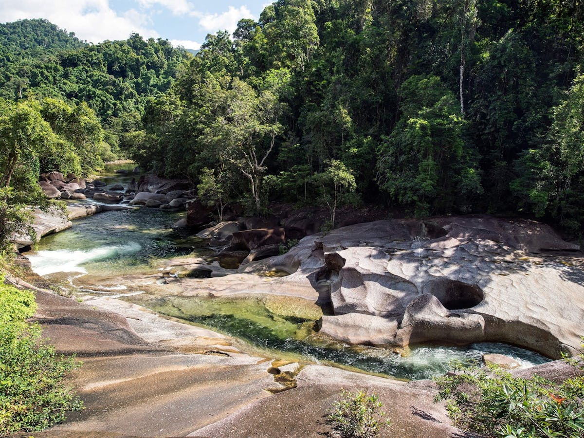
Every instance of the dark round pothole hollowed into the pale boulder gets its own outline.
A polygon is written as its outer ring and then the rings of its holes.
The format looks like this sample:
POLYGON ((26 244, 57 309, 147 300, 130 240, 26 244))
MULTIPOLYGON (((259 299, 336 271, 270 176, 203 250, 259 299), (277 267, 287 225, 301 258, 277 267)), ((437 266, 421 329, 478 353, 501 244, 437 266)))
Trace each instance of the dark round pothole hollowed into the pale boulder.
POLYGON ((475 307, 485 299, 484 292, 476 284, 451 279, 432 280, 426 284, 424 291, 438 298, 448 310, 475 307))

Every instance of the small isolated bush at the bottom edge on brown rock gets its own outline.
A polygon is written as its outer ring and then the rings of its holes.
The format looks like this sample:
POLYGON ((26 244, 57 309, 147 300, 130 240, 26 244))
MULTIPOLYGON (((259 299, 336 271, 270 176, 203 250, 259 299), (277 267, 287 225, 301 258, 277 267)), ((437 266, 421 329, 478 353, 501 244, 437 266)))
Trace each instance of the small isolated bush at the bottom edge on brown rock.
POLYGON ((341 395, 342 398, 333 403, 333 411, 328 416, 341 437, 376 437, 382 425, 391 425, 390 420, 384 418, 383 402, 377 394, 343 390, 341 395))

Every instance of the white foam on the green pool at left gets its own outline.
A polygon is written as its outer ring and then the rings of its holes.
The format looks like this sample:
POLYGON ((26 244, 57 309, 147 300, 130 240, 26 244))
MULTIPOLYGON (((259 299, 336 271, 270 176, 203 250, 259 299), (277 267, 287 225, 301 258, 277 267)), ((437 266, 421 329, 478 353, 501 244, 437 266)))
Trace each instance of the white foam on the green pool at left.
POLYGON ((88 262, 116 258, 120 255, 136 253, 142 249, 138 242, 130 241, 125 245, 98 246, 86 251, 69 251, 68 249, 45 249, 28 258, 33 272, 40 276, 55 272, 87 273, 82 266, 88 262))

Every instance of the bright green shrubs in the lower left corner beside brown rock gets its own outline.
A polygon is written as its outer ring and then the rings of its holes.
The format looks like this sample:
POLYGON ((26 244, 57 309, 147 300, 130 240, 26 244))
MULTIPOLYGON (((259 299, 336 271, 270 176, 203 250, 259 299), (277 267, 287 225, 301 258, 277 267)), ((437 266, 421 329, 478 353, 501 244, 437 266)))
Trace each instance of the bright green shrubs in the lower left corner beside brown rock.
POLYGON ((36 309, 34 295, 4 284, 0 276, 0 435, 46 429, 81 403, 62 379, 79 364, 55 354, 26 318, 36 309))

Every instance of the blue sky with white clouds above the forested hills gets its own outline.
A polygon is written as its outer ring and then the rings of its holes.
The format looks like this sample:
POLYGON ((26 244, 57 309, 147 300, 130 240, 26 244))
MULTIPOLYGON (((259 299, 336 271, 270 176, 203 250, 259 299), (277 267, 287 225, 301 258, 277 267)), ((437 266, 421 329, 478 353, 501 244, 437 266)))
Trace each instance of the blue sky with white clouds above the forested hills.
POLYGON ((131 33, 197 49, 208 33, 258 19, 268 0, 0 0, 0 22, 45 18, 88 43, 125 40, 131 33))

